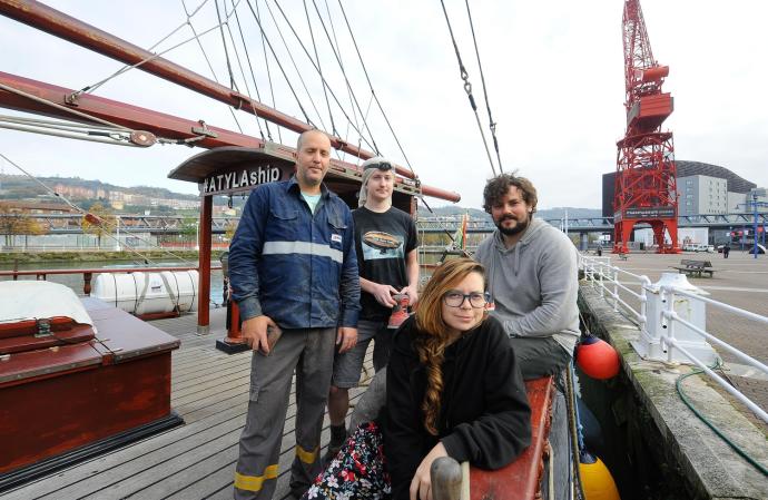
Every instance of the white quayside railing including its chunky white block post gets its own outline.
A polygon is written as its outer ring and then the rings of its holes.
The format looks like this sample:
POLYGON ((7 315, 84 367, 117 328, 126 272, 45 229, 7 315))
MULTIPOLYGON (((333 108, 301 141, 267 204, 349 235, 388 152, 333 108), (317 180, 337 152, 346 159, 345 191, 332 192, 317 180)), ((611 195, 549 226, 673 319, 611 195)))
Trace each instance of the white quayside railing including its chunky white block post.
POLYGON ((583 269, 585 278, 591 282, 591 285, 593 287, 599 287, 600 296, 604 297, 609 303, 612 302, 614 311, 618 311, 619 305, 621 305, 624 312, 630 313, 638 321, 641 335, 638 342, 632 342, 632 346, 642 357, 669 363, 681 362, 695 364, 729 394, 749 408, 758 418, 768 423, 768 412, 715 373, 715 371, 708 366, 708 363, 702 360, 702 357, 708 357, 708 352, 711 352, 712 355, 716 356, 711 346, 707 343, 710 342, 719 349, 731 353, 745 364, 768 375, 767 365, 721 341, 702 327, 705 324, 703 317, 706 317, 705 310, 707 305, 728 311, 737 316, 766 325, 768 325, 768 317, 705 297, 701 293, 692 291, 690 285, 685 288, 675 285, 664 285, 661 282, 653 285, 644 275, 629 273, 611 265, 610 257, 581 255, 580 267, 583 269), (620 282, 619 276, 633 277, 636 280, 634 284, 640 285, 640 293, 628 288, 628 282, 620 282), (630 304, 618 296, 620 290, 640 302, 639 311, 636 311, 630 304), (698 317, 685 317, 686 315, 681 315, 680 311, 676 310, 676 306, 680 304, 681 300, 692 304, 687 311, 692 310, 700 312, 698 317), (659 313, 652 314, 651 317, 648 317, 647 314, 649 301, 656 301, 654 304, 652 304, 653 311, 659 313), (697 321, 697 318, 700 321, 697 321), (678 332, 678 330, 680 330, 680 332, 678 332), (697 339, 691 341, 692 336, 697 339), (660 355, 661 353, 663 353, 663 355, 660 355))

